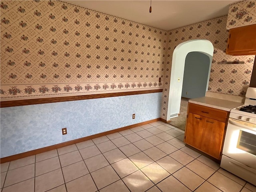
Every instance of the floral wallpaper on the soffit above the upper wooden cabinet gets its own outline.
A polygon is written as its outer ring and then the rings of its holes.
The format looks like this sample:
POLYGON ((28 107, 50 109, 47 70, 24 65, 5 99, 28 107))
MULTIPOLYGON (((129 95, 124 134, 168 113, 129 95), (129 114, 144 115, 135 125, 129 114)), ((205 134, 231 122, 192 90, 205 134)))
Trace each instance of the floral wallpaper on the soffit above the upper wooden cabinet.
POLYGON ((256 24, 256 1, 240 1, 230 4, 227 29, 256 24))

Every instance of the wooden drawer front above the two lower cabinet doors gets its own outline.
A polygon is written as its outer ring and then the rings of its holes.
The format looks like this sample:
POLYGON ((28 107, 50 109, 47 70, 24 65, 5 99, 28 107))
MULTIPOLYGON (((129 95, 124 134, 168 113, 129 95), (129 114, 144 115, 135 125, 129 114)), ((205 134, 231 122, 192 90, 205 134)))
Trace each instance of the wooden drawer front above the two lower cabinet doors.
POLYGON ((226 122, 226 117, 228 114, 228 112, 223 110, 214 109, 194 103, 188 104, 188 112, 212 118, 221 122, 226 122))

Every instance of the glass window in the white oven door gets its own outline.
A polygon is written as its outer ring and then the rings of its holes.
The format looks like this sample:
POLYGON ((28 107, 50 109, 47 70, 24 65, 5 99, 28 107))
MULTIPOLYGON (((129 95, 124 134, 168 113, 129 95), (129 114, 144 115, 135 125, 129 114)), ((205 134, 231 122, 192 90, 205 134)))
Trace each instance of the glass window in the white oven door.
POLYGON ((256 135, 240 130, 236 147, 250 154, 256 155, 256 135))

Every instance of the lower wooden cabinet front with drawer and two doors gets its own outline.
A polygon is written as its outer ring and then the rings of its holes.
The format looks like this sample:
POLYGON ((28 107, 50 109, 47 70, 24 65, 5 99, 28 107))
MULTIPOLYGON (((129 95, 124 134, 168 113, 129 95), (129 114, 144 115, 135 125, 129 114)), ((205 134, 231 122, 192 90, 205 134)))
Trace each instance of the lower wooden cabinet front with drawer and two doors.
POLYGON ((184 142, 220 160, 227 117, 226 111, 189 103, 184 142))

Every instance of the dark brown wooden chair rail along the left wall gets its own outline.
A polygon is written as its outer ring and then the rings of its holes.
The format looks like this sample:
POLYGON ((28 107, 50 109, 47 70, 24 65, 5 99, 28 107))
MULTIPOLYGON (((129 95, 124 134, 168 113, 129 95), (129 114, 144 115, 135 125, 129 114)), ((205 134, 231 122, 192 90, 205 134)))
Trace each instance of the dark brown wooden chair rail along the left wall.
POLYGON ((155 90, 142 90, 142 91, 130 91, 130 92, 114 92, 114 93, 106 93, 106 94, 90 94, 90 95, 62 96, 62 97, 36 98, 36 99, 25 99, 25 100, 11 100, 11 101, 2 101, 0 102, 0 105, 1 105, 1 108, 14 107, 14 106, 46 104, 46 103, 54 103, 54 102, 65 102, 65 101, 76 101, 76 100, 86 100, 86 99, 158 93, 162 91, 163 89, 155 89, 155 90))

